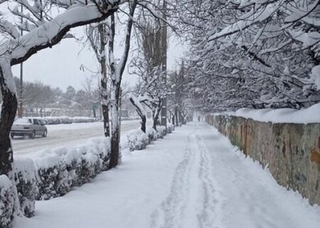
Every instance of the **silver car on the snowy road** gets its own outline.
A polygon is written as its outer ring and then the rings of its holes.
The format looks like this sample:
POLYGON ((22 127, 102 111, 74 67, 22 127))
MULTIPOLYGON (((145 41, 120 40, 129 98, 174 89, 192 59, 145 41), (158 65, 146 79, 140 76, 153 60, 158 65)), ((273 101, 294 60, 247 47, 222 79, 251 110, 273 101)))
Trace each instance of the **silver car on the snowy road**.
POLYGON ((42 120, 36 118, 18 118, 11 128, 11 138, 14 136, 28 136, 35 138, 36 135, 46 137, 48 130, 42 120))

